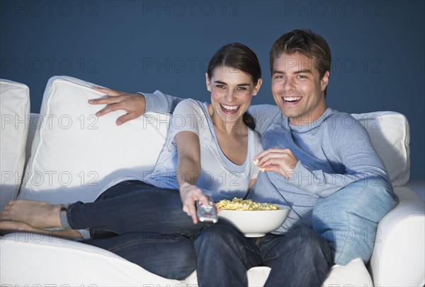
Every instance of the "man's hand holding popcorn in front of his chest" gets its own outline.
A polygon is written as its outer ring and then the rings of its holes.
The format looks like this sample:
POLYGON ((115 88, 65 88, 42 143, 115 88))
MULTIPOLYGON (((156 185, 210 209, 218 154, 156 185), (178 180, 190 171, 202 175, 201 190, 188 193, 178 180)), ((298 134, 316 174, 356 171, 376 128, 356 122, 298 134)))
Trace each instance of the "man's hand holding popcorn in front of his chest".
POLYGON ((269 148, 259 153, 254 158, 254 161, 256 160, 258 160, 256 165, 259 168, 264 168, 264 171, 278 172, 286 178, 292 176, 295 165, 298 163, 297 158, 288 148, 269 148))

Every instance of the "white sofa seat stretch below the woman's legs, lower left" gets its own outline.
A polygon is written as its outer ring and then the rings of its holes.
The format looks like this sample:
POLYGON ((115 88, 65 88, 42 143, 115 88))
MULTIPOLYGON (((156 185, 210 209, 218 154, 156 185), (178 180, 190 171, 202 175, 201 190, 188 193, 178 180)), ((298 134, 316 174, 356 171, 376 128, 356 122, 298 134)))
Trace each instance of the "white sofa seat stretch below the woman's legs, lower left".
POLYGON ((1 286, 186 286, 108 250, 63 238, 10 233, 0 246, 1 286))

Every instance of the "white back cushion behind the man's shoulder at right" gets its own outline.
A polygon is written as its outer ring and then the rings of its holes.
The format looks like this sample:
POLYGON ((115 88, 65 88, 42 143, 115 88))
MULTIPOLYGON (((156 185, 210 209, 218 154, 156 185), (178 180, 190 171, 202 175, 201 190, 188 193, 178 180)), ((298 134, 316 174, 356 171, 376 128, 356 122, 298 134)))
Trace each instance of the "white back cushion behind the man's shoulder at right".
POLYGON ((373 147, 384 162, 394 187, 410 176, 410 133, 407 118, 399 112, 368 112, 352 115, 368 130, 373 147))

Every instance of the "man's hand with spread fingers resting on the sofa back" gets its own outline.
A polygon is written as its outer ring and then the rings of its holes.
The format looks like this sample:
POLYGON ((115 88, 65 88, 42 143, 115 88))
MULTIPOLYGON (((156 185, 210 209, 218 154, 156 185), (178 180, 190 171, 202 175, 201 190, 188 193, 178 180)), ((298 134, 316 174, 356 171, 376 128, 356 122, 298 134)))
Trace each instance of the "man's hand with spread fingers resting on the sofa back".
POLYGON ((108 95, 108 97, 105 98, 89 100, 91 105, 106 105, 106 107, 103 107, 102 110, 96 112, 97 117, 101 117, 115 110, 125 110, 127 113, 117 119, 116 123, 119 126, 131 119, 140 117, 146 112, 146 100, 144 95, 123 93, 118 90, 111 90, 108 88, 93 89, 108 95))

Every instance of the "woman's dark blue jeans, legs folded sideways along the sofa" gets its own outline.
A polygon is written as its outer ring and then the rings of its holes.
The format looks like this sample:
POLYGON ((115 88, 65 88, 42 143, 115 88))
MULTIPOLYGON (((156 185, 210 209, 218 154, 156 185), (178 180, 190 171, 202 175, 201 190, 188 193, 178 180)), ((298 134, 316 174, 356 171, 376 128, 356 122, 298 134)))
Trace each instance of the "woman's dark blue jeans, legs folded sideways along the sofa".
POLYGON ((194 225, 182 208, 178 190, 132 180, 111 187, 94 202, 70 204, 67 221, 73 229, 89 228, 87 244, 181 280, 196 269, 193 236, 204 226, 194 225))

